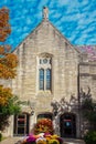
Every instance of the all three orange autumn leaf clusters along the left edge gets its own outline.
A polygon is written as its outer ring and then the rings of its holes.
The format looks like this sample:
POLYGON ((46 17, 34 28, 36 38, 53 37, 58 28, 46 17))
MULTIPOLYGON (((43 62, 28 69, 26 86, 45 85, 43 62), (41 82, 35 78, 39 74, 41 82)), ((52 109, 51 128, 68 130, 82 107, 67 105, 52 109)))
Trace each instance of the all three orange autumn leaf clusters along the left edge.
MULTIPOLYGON (((0 41, 6 41, 11 33, 9 21, 9 10, 7 8, 0 9, 0 41)), ((13 53, 9 53, 10 45, 0 45, 0 79, 13 79, 15 76, 15 68, 18 58, 13 53)), ((7 105, 8 100, 13 96, 11 89, 0 85, 0 105, 7 105)))

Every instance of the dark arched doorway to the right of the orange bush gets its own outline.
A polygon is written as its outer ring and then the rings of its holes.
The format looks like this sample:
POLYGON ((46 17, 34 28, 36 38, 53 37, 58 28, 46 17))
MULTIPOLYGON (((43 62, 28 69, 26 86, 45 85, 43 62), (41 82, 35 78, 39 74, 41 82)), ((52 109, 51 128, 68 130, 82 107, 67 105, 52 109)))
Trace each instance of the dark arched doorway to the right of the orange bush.
POLYGON ((60 131, 62 137, 76 137, 76 115, 64 113, 60 117, 60 131))

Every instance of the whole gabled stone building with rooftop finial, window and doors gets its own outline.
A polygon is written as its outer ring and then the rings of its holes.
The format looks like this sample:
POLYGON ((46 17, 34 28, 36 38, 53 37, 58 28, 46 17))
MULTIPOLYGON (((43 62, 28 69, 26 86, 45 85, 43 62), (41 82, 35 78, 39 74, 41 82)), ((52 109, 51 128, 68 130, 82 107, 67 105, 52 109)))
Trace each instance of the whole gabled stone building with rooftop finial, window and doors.
POLYGON ((41 23, 14 50, 19 58, 17 78, 10 82, 13 93, 28 101, 22 114, 10 117, 7 135, 25 135, 40 117, 53 120, 55 132, 63 137, 79 137, 79 88, 96 94, 96 63, 87 53, 72 45, 50 22, 47 8, 41 23), (53 112, 55 102, 61 102, 53 112), (71 102, 72 106, 70 105, 71 102))

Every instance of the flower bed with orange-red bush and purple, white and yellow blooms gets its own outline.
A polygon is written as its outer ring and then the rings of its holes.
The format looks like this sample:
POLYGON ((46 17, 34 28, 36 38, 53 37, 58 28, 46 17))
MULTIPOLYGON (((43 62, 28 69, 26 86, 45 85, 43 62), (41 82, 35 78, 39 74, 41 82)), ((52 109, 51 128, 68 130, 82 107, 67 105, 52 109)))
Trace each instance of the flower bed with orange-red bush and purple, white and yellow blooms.
POLYGON ((34 125, 32 134, 17 144, 63 144, 63 140, 54 134, 52 120, 42 119, 34 125))

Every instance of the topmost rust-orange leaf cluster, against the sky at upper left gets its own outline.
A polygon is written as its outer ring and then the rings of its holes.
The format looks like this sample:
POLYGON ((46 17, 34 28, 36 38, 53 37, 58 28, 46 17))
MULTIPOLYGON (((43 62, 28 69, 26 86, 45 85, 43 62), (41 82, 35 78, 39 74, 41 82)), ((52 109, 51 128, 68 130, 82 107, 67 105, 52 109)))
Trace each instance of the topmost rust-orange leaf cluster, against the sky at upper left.
POLYGON ((0 9, 0 41, 6 41, 6 38, 11 33, 9 21, 9 10, 7 8, 0 9))

